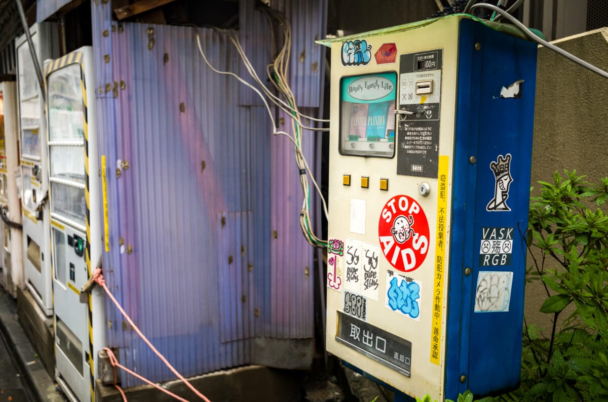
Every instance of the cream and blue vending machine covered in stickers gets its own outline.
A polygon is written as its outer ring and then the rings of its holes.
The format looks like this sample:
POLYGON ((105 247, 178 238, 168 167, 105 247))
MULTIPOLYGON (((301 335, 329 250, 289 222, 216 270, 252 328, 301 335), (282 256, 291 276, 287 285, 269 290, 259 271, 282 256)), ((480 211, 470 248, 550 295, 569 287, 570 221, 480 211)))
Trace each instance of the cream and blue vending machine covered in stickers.
POLYGON ((505 25, 322 42, 327 350, 396 400, 519 383, 537 46, 505 25))

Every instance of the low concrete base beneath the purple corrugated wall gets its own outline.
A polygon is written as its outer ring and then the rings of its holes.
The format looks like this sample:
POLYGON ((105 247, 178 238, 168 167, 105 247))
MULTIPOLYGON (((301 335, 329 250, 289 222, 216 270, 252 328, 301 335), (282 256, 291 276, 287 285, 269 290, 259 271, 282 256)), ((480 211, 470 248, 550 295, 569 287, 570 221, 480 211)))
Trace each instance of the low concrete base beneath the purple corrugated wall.
MULTIPOLYGON (((295 402, 302 400, 302 387, 299 381, 301 376, 302 373, 297 371, 246 366, 196 376, 189 378, 188 381, 213 402, 295 402)), ((163 387, 185 400, 199 399, 181 381, 171 381, 163 384, 163 387)), ((166 393, 151 386, 125 389, 125 395, 129 402, 174 401, 166 393)), ((101 381, 97 380, 95 401, 122 402, 122 397, 116 387, 103 386, 101 381)))

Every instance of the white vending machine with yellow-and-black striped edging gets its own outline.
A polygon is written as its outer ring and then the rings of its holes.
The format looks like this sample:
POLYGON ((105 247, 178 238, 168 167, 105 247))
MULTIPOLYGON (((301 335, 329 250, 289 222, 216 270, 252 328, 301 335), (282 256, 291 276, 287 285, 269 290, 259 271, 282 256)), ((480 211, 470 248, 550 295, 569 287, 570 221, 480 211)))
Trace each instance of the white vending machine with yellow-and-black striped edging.
POLYGON ((102 252, 93 74, 91 47, 45 67, 55 378, 71 400, 80 402, 92 398, 97 352, 103 345, 103 290, 95 287, 83 294, 84 300, 80 297, 102 252))

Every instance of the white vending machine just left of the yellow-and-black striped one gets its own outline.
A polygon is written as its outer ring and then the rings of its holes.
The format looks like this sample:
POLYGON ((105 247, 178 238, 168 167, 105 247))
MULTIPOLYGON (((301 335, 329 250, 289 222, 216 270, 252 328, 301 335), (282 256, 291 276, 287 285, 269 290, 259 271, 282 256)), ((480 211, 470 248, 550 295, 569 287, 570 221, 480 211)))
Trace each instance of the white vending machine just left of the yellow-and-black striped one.
MULTIPOLYGON (((30 27, 40 66, 57 57, 57 26, 40 23, 30 27)), ((47 191, 46 119, 44 98, 32 63, 25 35, 16 39, 19 131, 21 136, 21 203, 23 221, 23 263, 26 285, 42 311, 53 313, 50 264, 50 219, 47 191)))

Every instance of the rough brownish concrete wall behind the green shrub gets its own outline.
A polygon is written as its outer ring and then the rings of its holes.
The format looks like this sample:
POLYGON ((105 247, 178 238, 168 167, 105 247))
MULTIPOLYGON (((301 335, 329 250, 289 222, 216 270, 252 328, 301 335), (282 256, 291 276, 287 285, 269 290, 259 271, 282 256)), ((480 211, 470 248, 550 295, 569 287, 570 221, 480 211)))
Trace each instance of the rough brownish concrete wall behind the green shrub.
MULTIPOLYGON (((608 70, 608 28, 553 43, 608 70)), ((563 174, 564 169, 576 169, 592 182, 607 177, 608 79, 545 47, 539 48, 536 79, 533 194, 538 194, 538 180, 551 181, 556 170, 563 174)), ((532 264, 528 257, 528 266, 532 264)), ((538 311, 546 297, 540 282, 527 286, 525 315, 528 323, 550 327, 552 315, 538 311)))

